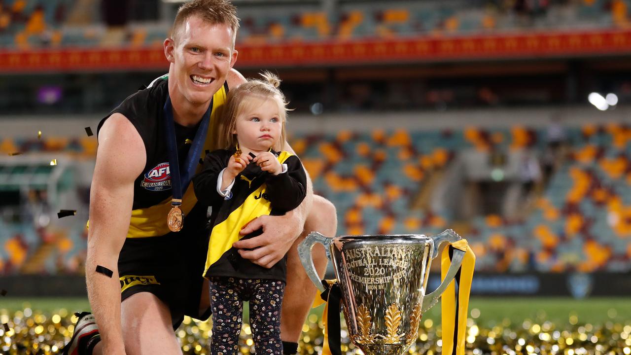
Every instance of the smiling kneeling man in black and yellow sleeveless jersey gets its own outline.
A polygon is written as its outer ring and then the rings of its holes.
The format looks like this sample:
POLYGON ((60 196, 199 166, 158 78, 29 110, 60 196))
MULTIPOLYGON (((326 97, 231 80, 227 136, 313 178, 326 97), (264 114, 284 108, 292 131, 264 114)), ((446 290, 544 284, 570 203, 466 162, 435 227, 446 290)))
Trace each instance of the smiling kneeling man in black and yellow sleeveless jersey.
MULTIPOLYGON (((172 38, 164 42, 168 79, 131 95, 99 124, 86 260, 93 315, 80 315, 63 354, 181 354, 173 329, 184 315, 208 317, 201 278, 206 211, 196 205, 192 188, 186 189, 192 175, 187 169, 194 171, 200 152, 213 148, 214 137, 204 136, 216 130, 206 126, 218 118, 227 90, 245 81, 232 69, 238 27, 227 0, 184 4, 172 38), (167 215, 181 217, 180 210, 183 229, 169 231, 177 226, 167 224, 167 215)), ((262 228, 261 236, 233 244, 263 267, 288 253, 281 315, 286 354, 296 352, 315 295, 298 260, 298 234, 318 230, 334 236, 335 222, 333 205, 313 196, 307 181, 300 207, 259 217, 242 234, 262 228)), ((324 250, 315 254, 322 272, 324 250)))

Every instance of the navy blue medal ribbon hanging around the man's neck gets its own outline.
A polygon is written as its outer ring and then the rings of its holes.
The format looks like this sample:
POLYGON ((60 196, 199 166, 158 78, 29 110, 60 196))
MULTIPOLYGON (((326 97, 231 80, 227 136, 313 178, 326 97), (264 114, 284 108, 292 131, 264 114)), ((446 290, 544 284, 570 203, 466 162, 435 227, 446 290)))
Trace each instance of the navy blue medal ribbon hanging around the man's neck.
POLYGON ((173 105, 171 97, 167 95, 167 102, 164 104, 165 125, 167 128, 167 146, 168 146, 168 165, 171 172, 171 184, 173 188, 173 198, 171 204, 179 206, 182 204, 182 196, 186 192, 186 188, 191 182, 191 178, 198 165, 199 153, 206 141, 206 133, 208 133, 208 124, 210 122, 210 113, 213 111, 213 101, 211 100, 208 110, 199 124, 195 138, 191 143, 191 148, 186 156, 186 162, 182 167, 180 175, 180 165, 177 154, 177 142, 175 141, 175 123, 173 119, 173 105))

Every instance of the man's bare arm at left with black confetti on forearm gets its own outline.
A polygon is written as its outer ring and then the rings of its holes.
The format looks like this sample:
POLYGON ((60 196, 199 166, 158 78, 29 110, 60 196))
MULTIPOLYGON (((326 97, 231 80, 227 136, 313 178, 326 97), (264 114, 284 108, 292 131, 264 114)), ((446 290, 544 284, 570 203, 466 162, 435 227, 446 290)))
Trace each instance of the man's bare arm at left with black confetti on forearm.
POLYGON ((121 330, 118 258, 129 229, 134 180, 146 162, 143 140, 122 114, 112 114, 98 136, 97 164, 90 189, 86 284, 104 354, 125 354, 121 330), (96 272, 109 268, 112 277, 96 272))

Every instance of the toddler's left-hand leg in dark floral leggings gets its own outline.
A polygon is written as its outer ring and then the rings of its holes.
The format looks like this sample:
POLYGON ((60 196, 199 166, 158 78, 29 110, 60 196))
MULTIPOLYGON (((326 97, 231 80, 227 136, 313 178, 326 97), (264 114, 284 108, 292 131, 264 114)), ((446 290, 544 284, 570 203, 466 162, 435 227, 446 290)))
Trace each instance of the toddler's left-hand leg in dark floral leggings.
POLYGON ((213 308, 211 354, 239 354, 239 333, 243 318, 241 291, 239 279, 232 277, 210 279, 210 298, 213 308))

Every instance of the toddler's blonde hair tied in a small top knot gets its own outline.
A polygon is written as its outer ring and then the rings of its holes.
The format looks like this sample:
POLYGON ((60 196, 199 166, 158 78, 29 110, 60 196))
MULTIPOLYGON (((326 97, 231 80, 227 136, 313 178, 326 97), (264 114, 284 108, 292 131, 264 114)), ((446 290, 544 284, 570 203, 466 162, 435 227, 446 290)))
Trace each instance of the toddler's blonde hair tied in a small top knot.
POLYGON ((283 150, 286 140, 285 123, 287 121, 287 111, 289 110, 287 109, 285 95, 278 88, 281 80, 269 71, 264 71, 261 73, 261 76, 262 79, 250 79, 228 92, 218 129, 218 147, 228 149, 237 145, 237 135, 232 133, 237 126, 237 117, 248 107, 248 99, 256 96, 261 99, 273 99, 278 103, 278 115, 282 127, 280 139, 276 141, 272 148, 276 151, 283 150))

